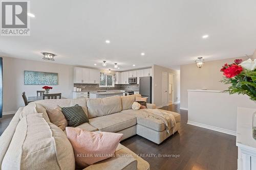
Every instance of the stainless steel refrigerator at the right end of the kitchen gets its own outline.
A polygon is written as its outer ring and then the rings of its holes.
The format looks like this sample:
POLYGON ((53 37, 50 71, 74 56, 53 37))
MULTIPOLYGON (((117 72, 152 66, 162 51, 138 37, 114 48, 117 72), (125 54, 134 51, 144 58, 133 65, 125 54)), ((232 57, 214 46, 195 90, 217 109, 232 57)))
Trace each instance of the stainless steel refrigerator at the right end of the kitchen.
POLYGON ((147 98, 147 103, 152 102, 152 77, 140 77, 140 94, 147 98))

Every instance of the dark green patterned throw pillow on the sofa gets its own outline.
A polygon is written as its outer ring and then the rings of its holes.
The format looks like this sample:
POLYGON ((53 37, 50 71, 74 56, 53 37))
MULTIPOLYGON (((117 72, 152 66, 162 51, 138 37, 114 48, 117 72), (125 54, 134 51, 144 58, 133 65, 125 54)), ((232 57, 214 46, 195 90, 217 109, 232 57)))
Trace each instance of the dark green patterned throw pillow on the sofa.
POLYGON ((77 127, 83 123, 89 123, 88 116, 79 105, 62 107, 61 111, 68 120, 69 127, 77 127))

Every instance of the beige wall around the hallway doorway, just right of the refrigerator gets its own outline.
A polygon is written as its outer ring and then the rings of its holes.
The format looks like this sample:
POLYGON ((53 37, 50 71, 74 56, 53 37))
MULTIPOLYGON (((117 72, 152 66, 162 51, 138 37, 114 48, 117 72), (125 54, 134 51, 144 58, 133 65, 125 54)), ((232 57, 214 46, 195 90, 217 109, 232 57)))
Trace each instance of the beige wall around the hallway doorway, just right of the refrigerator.
MULTIPOLYGON (((153 65, 152 66, 152 103, 156 104, 157 107, 162 106, 162 73, 167 72, 169 74, 174 75, 174 86, 175 86, 175 91, 174 91, 174 98, 175 101, 180 101, 179 96, 180 96, 180 90, 179 90, 179 85, 180 85, 180 76, 179 76, 179 71, 173 70, 170 68, 162 67, 159 65, 153 65)), ((169 80, 167 80, 167 87, 169 84, 169 80)), ((167 88, 167 93, 169 93, 169 88, 167 88)))

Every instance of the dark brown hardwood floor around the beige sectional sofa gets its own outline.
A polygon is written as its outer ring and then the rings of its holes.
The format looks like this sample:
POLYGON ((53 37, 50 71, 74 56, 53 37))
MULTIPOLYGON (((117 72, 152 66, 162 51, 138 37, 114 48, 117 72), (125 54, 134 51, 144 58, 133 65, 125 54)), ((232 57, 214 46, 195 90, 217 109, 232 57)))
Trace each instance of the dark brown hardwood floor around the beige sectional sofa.
MULTIPOLYGON (((181 114, 181 127, 178 133, 159 145, 138 135, 121 142, 149 162, 151 170, 237 169, 238 151, 235 136, 187 125, 187 111, 179 110, 179 105, 161 109, 181 114), (150 154, 156 154, 156 157, 150 157, 150 154), (162 154, 162 157, 158 157, 158 154, 162 154), (176 155, 176 158, 164 157, 165 154, 176 155)), ((13 115, 4 115, 0 118, 0 135, 12 117, 13 115)))

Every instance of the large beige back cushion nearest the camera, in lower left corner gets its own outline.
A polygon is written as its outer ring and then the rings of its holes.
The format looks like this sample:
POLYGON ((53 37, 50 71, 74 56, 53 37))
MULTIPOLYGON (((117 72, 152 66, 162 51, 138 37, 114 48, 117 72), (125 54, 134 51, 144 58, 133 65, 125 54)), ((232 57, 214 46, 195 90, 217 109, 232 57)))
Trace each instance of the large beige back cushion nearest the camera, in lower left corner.
POLYGON ((63 131, 42 114, 29 114, 17 125, 2 169, 75 169, 73 148, 63 131))

